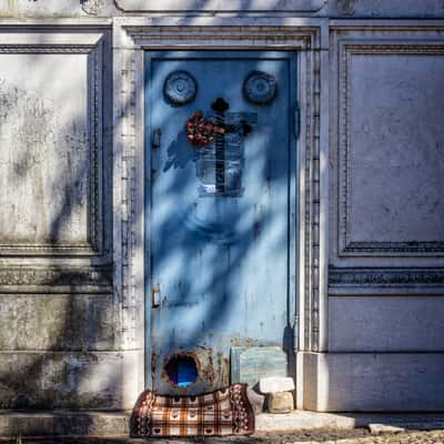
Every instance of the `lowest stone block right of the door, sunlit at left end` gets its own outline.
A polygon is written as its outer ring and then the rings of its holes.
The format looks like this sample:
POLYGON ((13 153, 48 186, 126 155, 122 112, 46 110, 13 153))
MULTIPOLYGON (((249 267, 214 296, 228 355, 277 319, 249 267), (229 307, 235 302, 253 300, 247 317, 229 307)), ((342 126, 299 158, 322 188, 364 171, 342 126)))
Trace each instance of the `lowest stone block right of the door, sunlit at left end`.
POLYGON ((320 412, 444 410, 444 353, 302 353, 304 408, 320 412))

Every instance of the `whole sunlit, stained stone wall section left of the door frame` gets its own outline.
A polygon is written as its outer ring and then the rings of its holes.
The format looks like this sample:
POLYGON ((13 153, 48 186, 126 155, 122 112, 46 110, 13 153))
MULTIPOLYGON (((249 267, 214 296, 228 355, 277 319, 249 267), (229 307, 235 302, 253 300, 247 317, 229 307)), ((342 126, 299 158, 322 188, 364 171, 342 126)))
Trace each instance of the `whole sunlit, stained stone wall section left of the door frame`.
POLYGON ((122 407, 111 39, 0 27, 0 407, 122 407))

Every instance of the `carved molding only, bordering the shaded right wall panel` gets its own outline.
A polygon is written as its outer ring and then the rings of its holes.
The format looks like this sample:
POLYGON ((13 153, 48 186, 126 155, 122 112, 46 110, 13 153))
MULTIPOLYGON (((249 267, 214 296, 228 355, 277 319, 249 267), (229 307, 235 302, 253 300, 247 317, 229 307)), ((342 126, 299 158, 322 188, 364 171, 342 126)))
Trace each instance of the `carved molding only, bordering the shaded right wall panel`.
MULTIPOLYGON (((408 28, 407 28, 408 29, 408 28)), ((418 31, 420 28, 416 29, 418 31)), ((413 30, 412 30, 413 31, 413 30)), ((352 242, 349 233, 350 221, 350 143, 349 143, 349 99, 350 69, 354 54, 437 54, 444 56, 444 44, 440 40, 412 42, 396 38, 384 42, 364 39, 342 40, 339 43, 340 72, 340 214, 339 256, 444 256, 444 241, 434 242, 352 242)))

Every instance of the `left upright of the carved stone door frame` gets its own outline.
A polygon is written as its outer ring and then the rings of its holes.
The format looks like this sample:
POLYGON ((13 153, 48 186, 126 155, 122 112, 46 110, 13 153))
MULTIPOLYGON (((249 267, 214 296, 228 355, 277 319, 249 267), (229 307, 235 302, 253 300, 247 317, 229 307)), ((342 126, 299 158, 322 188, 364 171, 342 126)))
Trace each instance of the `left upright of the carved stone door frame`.
POLYGON ((114 296, 120 347, 129 352, 127 408, 144 390, 143 63, 135 51, 113 48, 114 296), (139 95, 140 94, 140 95, 139 95), (141 107, 141 109, 139 108, 141 107))

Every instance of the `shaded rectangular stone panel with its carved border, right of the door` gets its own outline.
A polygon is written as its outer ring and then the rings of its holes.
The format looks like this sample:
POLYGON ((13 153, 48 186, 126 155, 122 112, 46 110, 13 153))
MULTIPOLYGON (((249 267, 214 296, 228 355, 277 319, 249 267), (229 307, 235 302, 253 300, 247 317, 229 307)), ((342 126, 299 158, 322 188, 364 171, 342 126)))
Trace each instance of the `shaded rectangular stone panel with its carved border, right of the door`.
POLYGON ((344 44, 340 255, 444 253, 444 47, 344 44))

